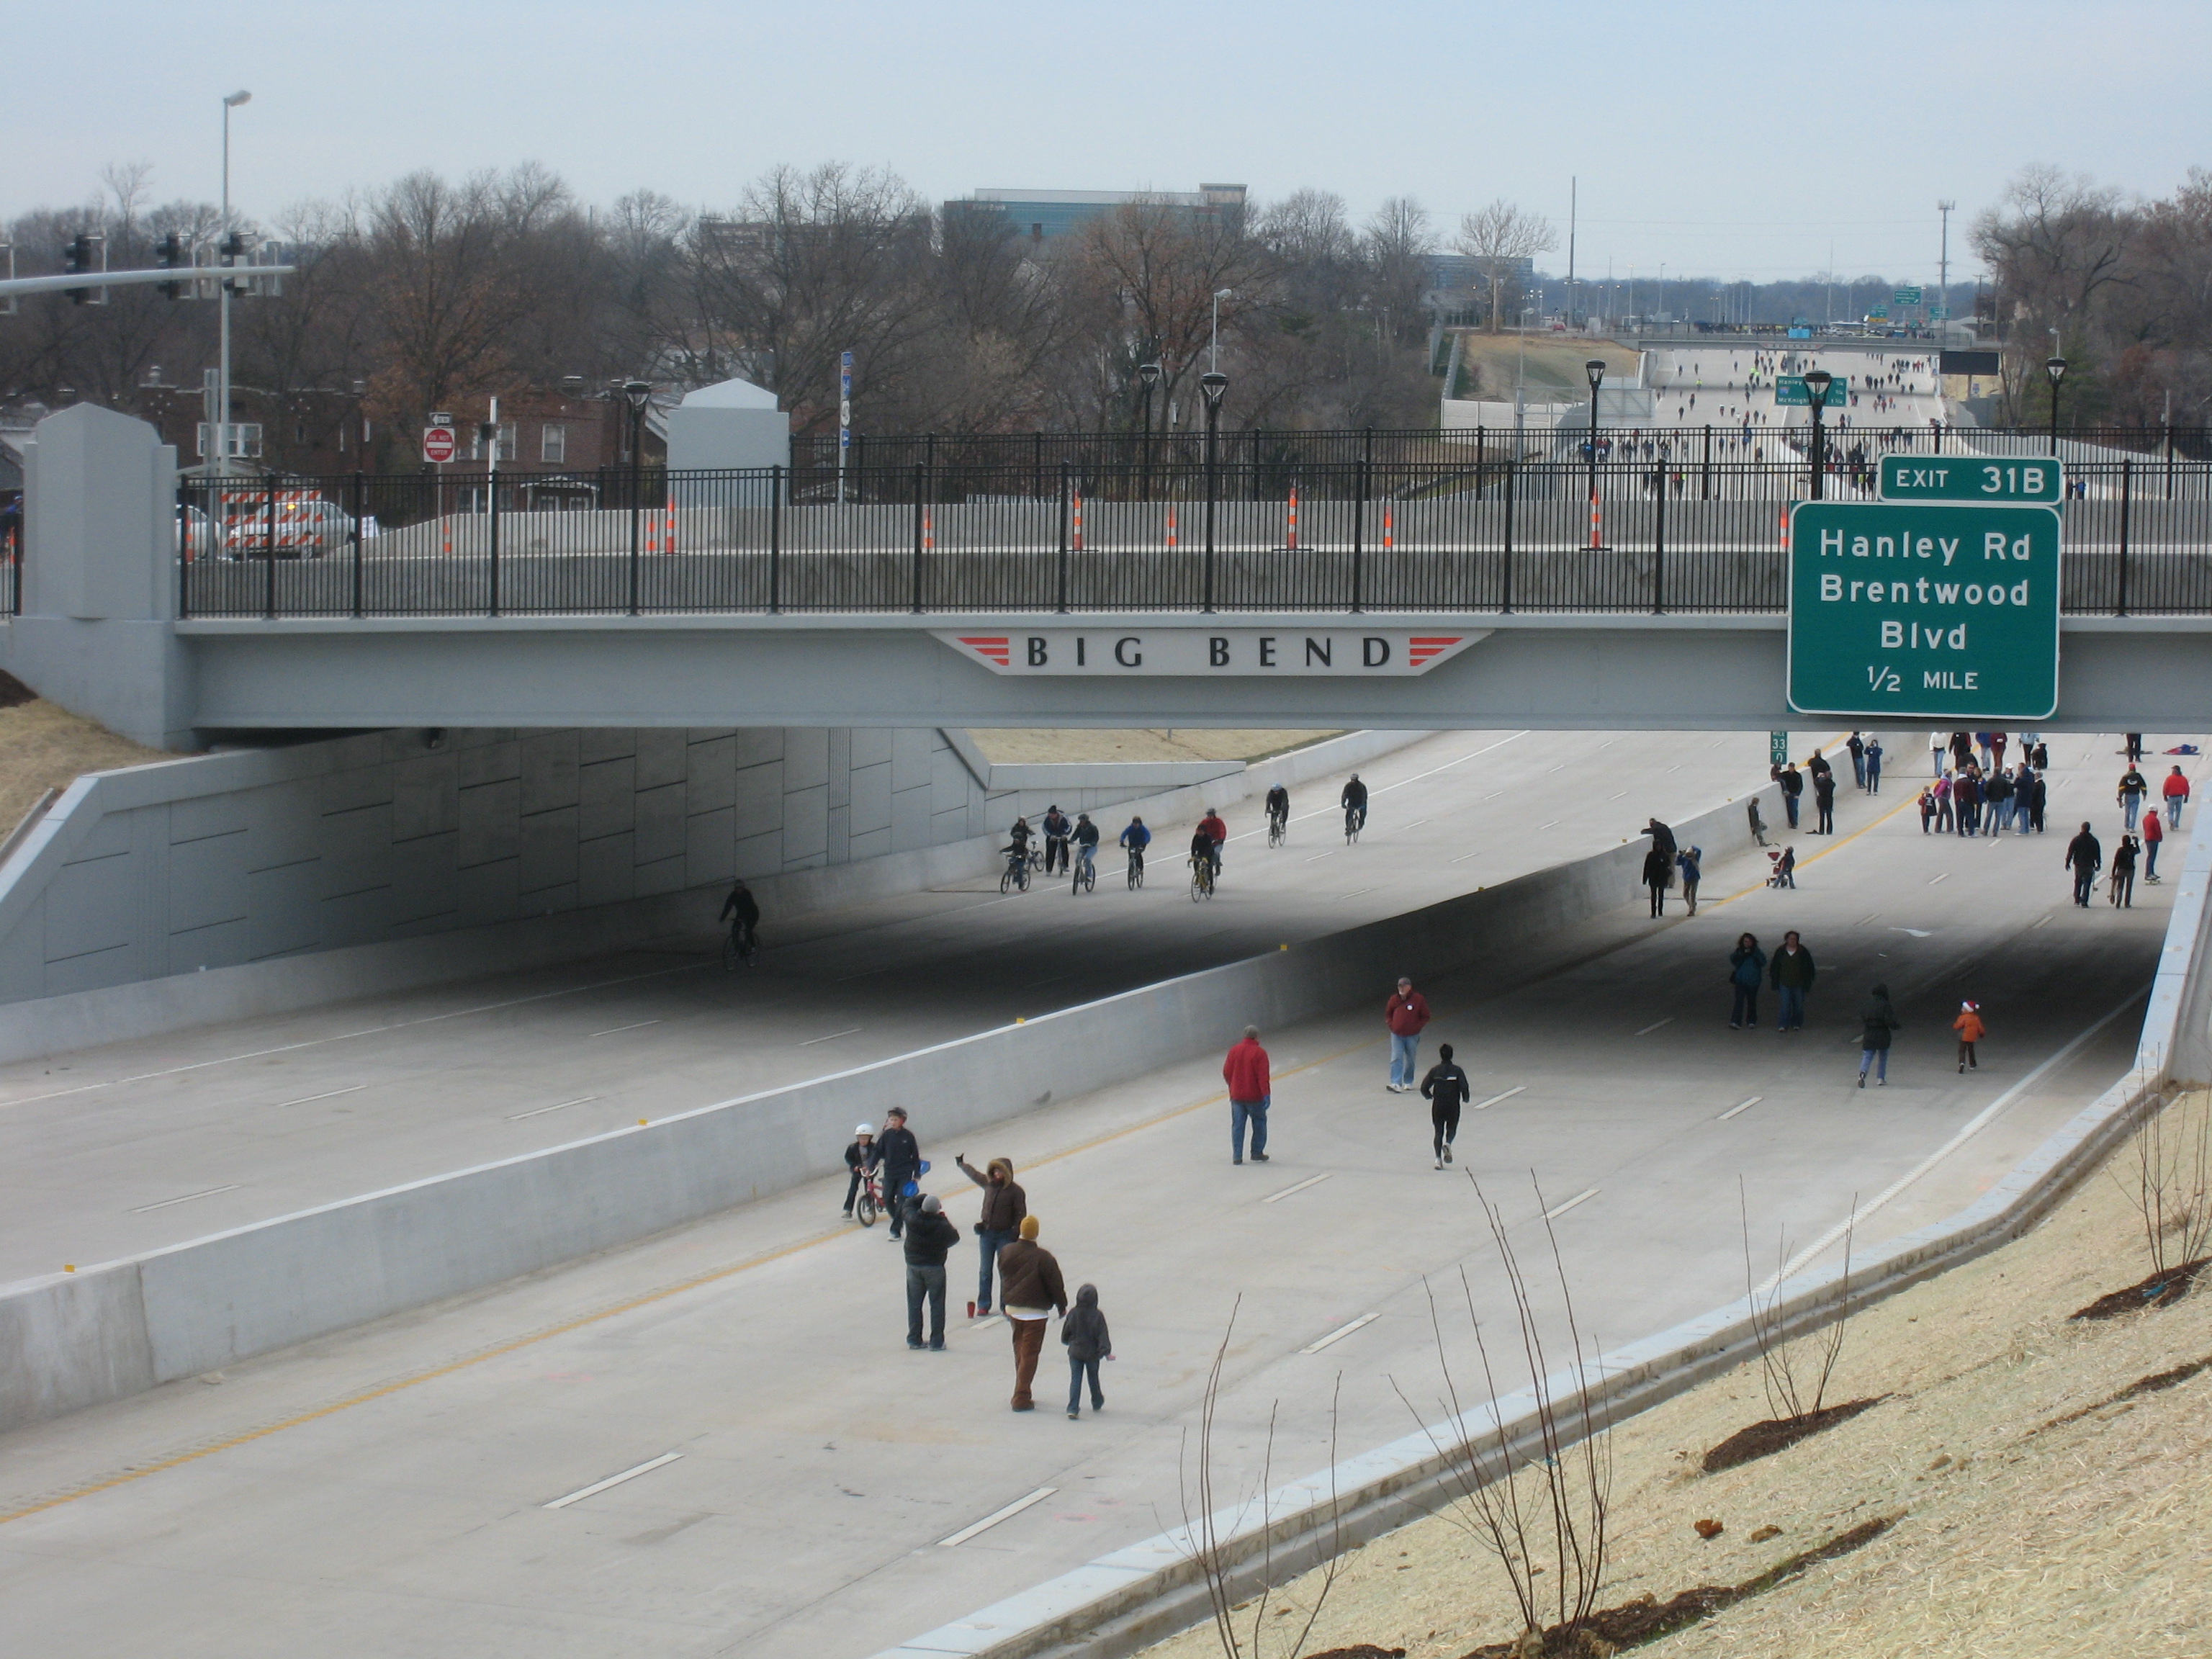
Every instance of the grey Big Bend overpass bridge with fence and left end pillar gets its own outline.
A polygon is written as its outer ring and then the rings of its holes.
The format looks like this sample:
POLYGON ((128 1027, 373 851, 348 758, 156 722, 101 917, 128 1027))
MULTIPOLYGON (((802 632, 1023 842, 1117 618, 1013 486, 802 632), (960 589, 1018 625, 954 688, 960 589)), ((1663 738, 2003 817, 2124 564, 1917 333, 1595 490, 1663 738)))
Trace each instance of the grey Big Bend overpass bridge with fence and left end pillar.
MULTIPOLYGON (((150 427, 77 407, 38 434, 4 661, 170 748, 385 726, 1792 723, 1787 460, 1475 453, 1380 500, 1164 469, 1091 502, 1066 473, 947 502, 914 469, 905 500, 874 480, 867 502, 792 502, 763 469, 500 511, 511 484, 405 480, 416 511, 374 515, 270 482, 195 518, 150 427)), ((2212 465, 2077 471, 2042 723, 2197 728, 2212 465)))

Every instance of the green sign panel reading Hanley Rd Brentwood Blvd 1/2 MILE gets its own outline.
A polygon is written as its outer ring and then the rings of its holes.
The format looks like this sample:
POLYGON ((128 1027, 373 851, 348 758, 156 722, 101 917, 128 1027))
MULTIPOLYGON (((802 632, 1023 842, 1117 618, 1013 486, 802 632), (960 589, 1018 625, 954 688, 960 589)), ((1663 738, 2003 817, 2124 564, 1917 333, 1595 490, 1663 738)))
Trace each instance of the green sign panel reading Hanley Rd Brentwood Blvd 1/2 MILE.
POLYGON ((1805 714, 2048 719, 2057 509, 1796 502, 1787 686, 1805 714))

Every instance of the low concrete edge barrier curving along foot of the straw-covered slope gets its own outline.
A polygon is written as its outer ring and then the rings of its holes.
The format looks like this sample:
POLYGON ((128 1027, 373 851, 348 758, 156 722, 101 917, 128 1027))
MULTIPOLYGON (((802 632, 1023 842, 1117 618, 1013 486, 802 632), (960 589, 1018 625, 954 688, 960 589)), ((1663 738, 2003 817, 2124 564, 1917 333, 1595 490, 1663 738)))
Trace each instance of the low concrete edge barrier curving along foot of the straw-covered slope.
MULTIPOLYGON (((1856 1305, 1893 1296, 2022 1237, 2124 1146, 2170 1088, 2201 1079, 2201 1073, 2170 1073, 2168 1057, 2188 1055, 2192 1044, 2201 1051, 2212 1026, 2208 889, 2212 825, 2199 818, 2130 1073, 1975 1203, 1898 1239, 1871 1261, 1858 1259, 1849 1274, 1856 1305)), ((1792 1279, 1774 1307, 1761 1312, 1792 1338, 1825 1325, 1843 1292, 1843 1265, 1829 1261, 1792 1279)), ((1752 1307, 1736 1301, 1597 1356, 1584 1376, 1555 1374, 1546 1391, 1559 1425, 1579 1418, 1584 1394, 1604 1405, 1604 1420, 1619 1422, 1732 1369, 1752 1352, 1752 1307)), ((1214 1559, 1230 1599, 1285 1584, 1332 1551, 1356 1548, 1436 1513, 1464 1489, 1469 1442, 1482 1449, 1486 1469, 1498 1469, 1502 1455, 1513 1462, 1542 1455, 1535 1394, 1520 1389, 1217 1513, 1214 1559)), ((1119 1659, 1210 1617, 1210 1586, 1199 1568, 1203 1537, 1201 1524, 1148 1537, 878 1659, 1119 1659)))

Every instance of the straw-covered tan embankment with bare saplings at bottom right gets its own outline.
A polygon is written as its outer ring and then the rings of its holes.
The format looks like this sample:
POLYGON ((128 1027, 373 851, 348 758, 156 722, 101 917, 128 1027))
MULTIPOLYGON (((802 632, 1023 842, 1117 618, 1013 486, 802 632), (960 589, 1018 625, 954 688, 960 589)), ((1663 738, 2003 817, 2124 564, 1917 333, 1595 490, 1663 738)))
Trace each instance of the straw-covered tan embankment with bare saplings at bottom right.
MULTIPOLYGON (((2205 1110, 2197 1095, 2168 1121, 2205 1110)), ((1887 1398, 1820 1433, 1705 1473, 1708 1451, 1772 1416, 1756 1363, 1615 1429, 1599 1606, 1750 1590, 1637 1650, 2203 1655, 2212 1294, 2073 1318, 2150 1265, 2132 1188, 2121 1150, 2026 1239, 1860 1312, 1827 1398, 1887 1398)), ((1245 1657, 1285 1659, 1316 1590, 1310 1575, 1276 1595, 1256 1650, 1248 1606, 1245 1657)), ((1517 1624, 1495 1559, 1438 1515, 1347 1557, 1305 1652, 1460 1659, 1517 1624)), ((1219 1652, 1210 1626, 1152 1650, 1219 1652)))

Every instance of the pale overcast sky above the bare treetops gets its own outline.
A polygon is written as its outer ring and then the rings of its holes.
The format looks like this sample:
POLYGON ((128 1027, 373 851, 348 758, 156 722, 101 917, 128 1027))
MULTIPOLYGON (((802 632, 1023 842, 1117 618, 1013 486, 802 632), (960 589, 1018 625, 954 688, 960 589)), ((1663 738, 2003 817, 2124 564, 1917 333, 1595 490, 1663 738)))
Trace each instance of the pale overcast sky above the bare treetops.
MULTIPOLYGON (((542 161, 586 201, 732 201, 776 161, 978 186, 1301 186, 1442 228, 1551 215, 1582 274, 1933 279, 2028 161, 2146 195, 2212 164, 2208 0, 71 0, 7 7, 0 212, 113 161, 274 215, 414 168, 542 161), (1953 219, 1951 252, 1964 237, 1953 219)), ((1953 263, 1953 274, 1964 265, 1953 263)))

